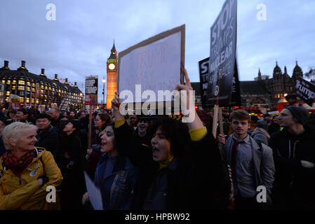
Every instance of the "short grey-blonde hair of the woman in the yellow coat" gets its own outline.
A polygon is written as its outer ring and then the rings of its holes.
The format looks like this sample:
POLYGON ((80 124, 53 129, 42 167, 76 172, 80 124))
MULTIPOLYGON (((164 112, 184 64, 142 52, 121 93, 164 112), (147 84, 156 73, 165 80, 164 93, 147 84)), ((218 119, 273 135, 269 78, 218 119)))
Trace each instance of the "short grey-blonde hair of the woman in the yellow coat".
POLYGON ((15 142, 18 141, 22 137, 22 132, 24 130, 37 131, 38 128, 35 125, 22 122, 14 122, 4 128, 2 131, 2 139, 4 140, 4 146, 6 147, 6 150, 11 150, 13 148, 8 140, 13 139, 15 142))

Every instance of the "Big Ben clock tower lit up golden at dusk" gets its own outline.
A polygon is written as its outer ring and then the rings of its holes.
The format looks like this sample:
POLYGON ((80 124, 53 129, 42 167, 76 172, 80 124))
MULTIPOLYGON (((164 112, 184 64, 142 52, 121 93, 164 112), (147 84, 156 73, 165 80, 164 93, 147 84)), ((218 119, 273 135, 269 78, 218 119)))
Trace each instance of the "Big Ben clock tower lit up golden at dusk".
POLYGON ((115 92, 117 92, 118 83, 118 59, 117 51, 115 48, 115 42, 110 52, 110 56, 107 59, 107 98, 106 107, 107 109, 112 108, 112 99, 115 97, 115 92))

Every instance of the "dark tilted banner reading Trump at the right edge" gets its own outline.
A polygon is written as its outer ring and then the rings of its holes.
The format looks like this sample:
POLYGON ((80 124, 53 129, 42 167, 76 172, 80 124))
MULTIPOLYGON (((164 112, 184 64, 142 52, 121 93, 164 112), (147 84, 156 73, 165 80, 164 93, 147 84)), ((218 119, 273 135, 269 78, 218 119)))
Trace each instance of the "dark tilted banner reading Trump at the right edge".
POLYGON ((314 104, 315 84, 297 76, 295 80, 295 93, 309 106, 314 104))

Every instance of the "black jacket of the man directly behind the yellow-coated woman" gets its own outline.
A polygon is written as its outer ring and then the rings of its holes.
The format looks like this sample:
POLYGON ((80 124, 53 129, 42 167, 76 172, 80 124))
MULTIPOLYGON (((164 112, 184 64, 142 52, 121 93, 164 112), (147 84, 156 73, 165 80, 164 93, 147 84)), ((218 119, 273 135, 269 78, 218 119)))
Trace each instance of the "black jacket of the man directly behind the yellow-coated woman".
POLYGON ((53 154, 53 158, 56 160, 58 153, 58 130, 57 128, 49 125, 44 132, 37 131, 37 142, 35 146, 43 147, 46 151, 50 151, 53 154))

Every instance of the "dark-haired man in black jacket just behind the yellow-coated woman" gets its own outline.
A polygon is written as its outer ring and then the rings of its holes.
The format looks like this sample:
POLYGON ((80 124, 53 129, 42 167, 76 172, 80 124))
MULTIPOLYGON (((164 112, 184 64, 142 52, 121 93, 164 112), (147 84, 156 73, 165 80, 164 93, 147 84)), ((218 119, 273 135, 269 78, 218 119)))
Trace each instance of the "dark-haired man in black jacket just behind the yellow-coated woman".
POLYGON ((39 128, 35 146, 46 148, 53 154, 55 160, 58 160, 58 130, 51 125, 51 117, 46 113, 41 113, 35 120, 39 128))

